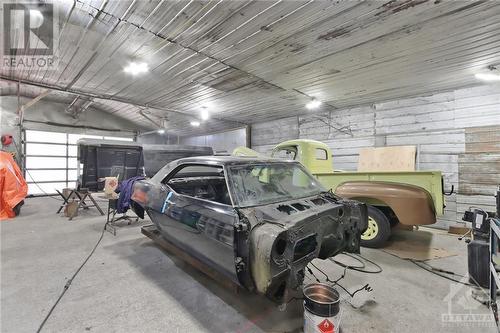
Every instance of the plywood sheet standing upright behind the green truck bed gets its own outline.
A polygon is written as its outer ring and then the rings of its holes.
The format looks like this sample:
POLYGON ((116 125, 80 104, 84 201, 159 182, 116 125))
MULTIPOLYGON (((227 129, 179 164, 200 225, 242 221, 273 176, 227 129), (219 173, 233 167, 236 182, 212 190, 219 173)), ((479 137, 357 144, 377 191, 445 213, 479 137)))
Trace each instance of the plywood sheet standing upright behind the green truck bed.
POLYGON ((415 146, 363 148, 358 171, 415 171, 415 146))

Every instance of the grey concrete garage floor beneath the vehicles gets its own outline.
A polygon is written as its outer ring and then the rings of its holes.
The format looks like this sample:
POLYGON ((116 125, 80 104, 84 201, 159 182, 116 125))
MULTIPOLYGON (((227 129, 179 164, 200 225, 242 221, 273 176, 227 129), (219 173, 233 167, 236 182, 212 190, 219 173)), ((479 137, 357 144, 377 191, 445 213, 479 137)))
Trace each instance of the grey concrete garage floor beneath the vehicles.
MULTIPOLYGON (((50 198, 28 199, 21 216, 0 223, 1 332, 36 331, 100 235, 105 218, 96 211, 68 221, 55 214, 58 206, 50 198)), ((301 331, 299 301, 279 311, 259 296, 225 290, 157 248, 140 233, 145 224, 149 222, 124 226, 116 236, 105 233, 43 331, 301 331)), ((459 253, 432 260, 432 265, 465 274, 465 243, 443 232, 432 232, 430 237, 433 246, 459 253)), ((470 323, 445 325, 442 315, 490 313, 470 299, 468 287, 455 288, 450 281, 381 250, 362 249, 362 254, 384 271, 348 272, 342 281, 345 287, 354 290, 369 283, 373 291, 351 301, 359 309, 343 302, 343 332, 466 332, 470 323)), ((315 264, 332 278, 342 273, 330 261, 315 264)), ((496 331, 491 323, 485 326, 482 332, 496 331)))

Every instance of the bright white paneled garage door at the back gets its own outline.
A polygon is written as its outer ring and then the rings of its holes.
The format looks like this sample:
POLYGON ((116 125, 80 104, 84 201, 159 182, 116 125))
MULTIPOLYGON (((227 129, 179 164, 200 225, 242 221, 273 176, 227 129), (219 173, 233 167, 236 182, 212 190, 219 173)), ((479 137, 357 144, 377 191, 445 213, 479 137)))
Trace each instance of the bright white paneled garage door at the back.
POLYGON ((28 194, 54 194, 56 189, 76 186, 76 142, 82 138, 133 141, 125 137, 26 130, 25 178, 28 194))

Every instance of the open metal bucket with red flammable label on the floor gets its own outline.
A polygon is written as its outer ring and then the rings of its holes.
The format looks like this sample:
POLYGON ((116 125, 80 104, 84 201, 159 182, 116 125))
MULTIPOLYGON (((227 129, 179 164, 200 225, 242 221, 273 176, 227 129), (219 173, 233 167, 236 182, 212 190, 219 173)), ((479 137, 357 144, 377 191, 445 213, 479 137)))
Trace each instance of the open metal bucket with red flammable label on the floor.
POLYGON ((337 290, 323 283, 308 284, 304 293, 304 333, 340 331, 342 312, 337 290))

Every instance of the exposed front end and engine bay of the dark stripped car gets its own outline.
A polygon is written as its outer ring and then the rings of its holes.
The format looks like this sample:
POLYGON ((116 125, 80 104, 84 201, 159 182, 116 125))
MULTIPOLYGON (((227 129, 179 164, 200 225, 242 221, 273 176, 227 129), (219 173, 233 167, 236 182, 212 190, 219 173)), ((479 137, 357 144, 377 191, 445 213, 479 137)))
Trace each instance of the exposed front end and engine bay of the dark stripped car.
POLYGON ((311 260, 359 252, 367 227, 366 205, 329 192, 239 212, 250 226, 248 259, 254 286, 276 302, 286 290, 301 287, 311 260))

